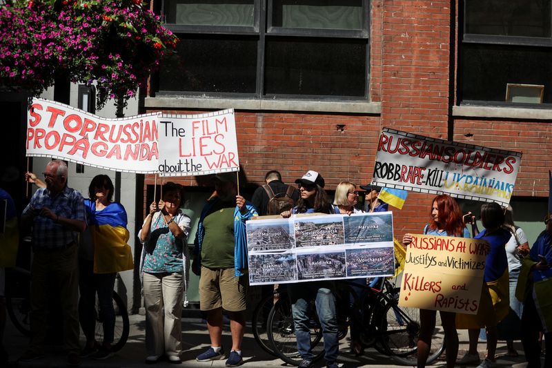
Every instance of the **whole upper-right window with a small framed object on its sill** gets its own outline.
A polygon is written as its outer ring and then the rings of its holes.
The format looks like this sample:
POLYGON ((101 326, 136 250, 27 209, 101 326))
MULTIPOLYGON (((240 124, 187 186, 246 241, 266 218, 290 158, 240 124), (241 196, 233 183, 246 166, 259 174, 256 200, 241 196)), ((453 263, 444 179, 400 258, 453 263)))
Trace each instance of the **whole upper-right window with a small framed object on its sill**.
POLYGON ((551 0, 461 4, 460 100, 529 107, 552 104, 551 0), (509 85, 544 86, 542 99, 512 98, 509 85))

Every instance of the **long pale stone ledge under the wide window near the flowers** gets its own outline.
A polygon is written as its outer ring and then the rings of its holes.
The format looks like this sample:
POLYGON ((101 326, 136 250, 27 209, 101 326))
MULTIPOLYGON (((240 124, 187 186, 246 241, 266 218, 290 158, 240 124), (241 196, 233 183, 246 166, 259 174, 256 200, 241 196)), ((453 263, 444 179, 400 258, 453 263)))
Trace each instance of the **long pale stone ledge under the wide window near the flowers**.
POLYGON ((380 114, 382 104, 368 101, 302 101, 285 99, 227 99, 227 98, 192 98, 192 97, 146 97, 146 108, 158 109, 195 109, 206 108, 223 110, 285 110, 308 111, 317 113, 355 113, 380 114))

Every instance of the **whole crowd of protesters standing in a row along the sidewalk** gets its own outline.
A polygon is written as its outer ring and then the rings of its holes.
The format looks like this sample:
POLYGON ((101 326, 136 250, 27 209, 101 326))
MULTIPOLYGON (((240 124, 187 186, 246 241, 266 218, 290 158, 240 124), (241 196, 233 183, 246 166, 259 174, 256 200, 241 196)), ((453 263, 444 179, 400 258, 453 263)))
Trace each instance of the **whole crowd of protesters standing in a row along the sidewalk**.
MULTIPOLYGON (((63 336, 68 365, 79 365, 81 358, 106 359, 112 356, 113 326, 112 291, 115 275, 132 269, 132 254, 126 230, 126 212, 121 204, 112 202, 113 184, 107 175, 97 175, 90 183, 89 199, 84 200, 78 191, 67 186, 65 162, 48 162, 42 182, 32 173, 28 182, 39 189, 34 193, 21 215, 23 229, 32 229, 32 289, 31 339, 21 361, 43 357, 46 312, 52 298, 48 295, 54 282, 59 289, 59 303, 63 311, 63 336), (113 262, 117 259, 117 262, 113 262), (52 278, 52 275, 54 276, 52 278), (80 285, 80 300, 79 296, 80 285), (93 308, 97 294, 100 313, 103 314, 103 341, 94 337, 93 308), (86 345, 79 346, 79 322, 86 336, 86 345)), ((199 275, 200 309, 206 313, 210 347, 197 356, 200 362, 226 356, 221 345, 223 310, 230 318, 232 348, 226 360, 227 367, 242 365, 242 339, 244 336, 246 293, 248 282, 245 222, 266 214, 273 204, 271 196, 278 185, 287 186, 277 171, 267 173, 266 188, 257 189, 253 203, 238 194, 235 173, 215 175, 215 193, 206 202, 195 234, 195 249, 188 254, 187 239, 192 220, 181 212, 184 196, 179 184, 164 184, 159 202, 148 206, 148 214, 139 231, 143 244, 140 275, 146 309, 146 363, 155 363, 165 357, 169 362, 180 363, 182 353, 181 308, 187 304, 188 269, 199 275), (265 193, 266 192, 266 193, 265 193), (254 205, 255 204, 255 205, 254 205), (257 211, 258 209, 258 211, 257 211)), ((380 187, 361 186, 365 189, 364 206, 359 208, 355 184, 340 183, 331 202, 324 190, 324 178, 316 171, 308 171, 295 181, 299 191, 293 193, 295 206, 282 211, 282 217, 295 213, 340 213, 351 215, 360 212, 387 211, 386 203, 378 199, 380 187)), ((279 187, 278 187, 279 188, 279 187)), ((281 202, 283 203, 283 202, 281 202)), ((481 206, 480 220, 484 229, 479 231, 475 216, 462 215, 457 202, 449 195, 437 195, 431 202, 425 235, 477 238, 490 244, 486 255, 484 284, 480 308, 476 315, 440 311, 446 336, 446 366, 479 364, 480 368, 495 367, 497 339, 507 341, 508 354, 517 356, 513 340, 522 340, 527 367, 540 367, 541 339, 544 336, 546 355, 544 366, 552 364, 552 336, 548 325, 552 323, 552 303, 549 288, 552 270, 552 214, 546 215, 546 229, 538 236, 533 247, 523 231, 513 224, 512 209, 499 204, 481 206), (467 220, 466 220, 467 219, 467 220), (466 228, 471 224, 472 233, 466 228), (507 322, 506 322, 507 321, 507 322), (486 356, 480 360, 477 353, 477 335, 486 330, 486 356), (457 329, 469 329, 470 345, 465 356, 457 360, 457 329)), ((404 246, 413 241, 406 233, 404 246)), ((0 271, 3 271, 0 268, 0 271)), ((3 273, 0 273, 0 302, 3 302, 3 273)), ((373 280, 358 279, 361 284, 373 280)), ((360 291, 362 289, 359 288, 360 291)), ((310 344, 308 304, 315 302, 324 336, 324 358, 327 368, 339 367, 338 329, 335 284, 331 281, 313 281, 288 284, 292 303, 297 350, 302 358, 299 367, 313 366, 310 344)), ((3 304, 0 303, 0 307, 3 304)), ((0 309, 0 314, 2 310, 0 309)), ((420 309, 420 336, 417 340, 417 367, 425 367, 431 349, 431 336, 435 329, 436 311, 420 309)), ((359 331, 351 327, 351 351, 363 354, 364 347, 358 338, 359 331)), ((5 351, 0 351, 6 358, 5 351)))

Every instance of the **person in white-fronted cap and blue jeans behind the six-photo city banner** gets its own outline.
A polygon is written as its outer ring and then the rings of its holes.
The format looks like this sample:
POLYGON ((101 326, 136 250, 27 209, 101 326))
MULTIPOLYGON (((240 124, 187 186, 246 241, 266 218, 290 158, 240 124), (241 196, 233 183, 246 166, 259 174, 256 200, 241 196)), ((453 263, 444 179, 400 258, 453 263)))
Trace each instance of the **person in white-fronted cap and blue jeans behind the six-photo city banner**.
MULTIPOLYGON (((316 171, 308 171, 301 179, 295 180, 299 184, 301 197, 292 211, 285 211, 282 217, 290 217, 292 213, 335 213, 333 206, 324 191, 324 178, 316 171)), ((331 281, 302 282, 288 284, 291 300, 291 312, 295 324, 295 338, 297 350, 302 361, 299 368, 309 368, 313 365, 313 351, 311 349, 311 330, 308 304, 315 300, 315 307, 322 325, 324 337, 324 358, 327 368, 337 368, 339 354, 339 340, 337 338, 337 314, 335 311, 335 285, 331 281)))

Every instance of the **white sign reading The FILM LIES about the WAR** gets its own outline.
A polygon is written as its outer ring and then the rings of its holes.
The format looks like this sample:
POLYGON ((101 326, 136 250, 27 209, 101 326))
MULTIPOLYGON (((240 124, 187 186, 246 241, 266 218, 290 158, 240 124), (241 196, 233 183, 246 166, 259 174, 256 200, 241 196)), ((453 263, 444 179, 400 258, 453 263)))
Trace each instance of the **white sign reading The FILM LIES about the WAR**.
POLYGON ((162 115, 158 171, 161 176, 239 171, 234 110, 162 115))

